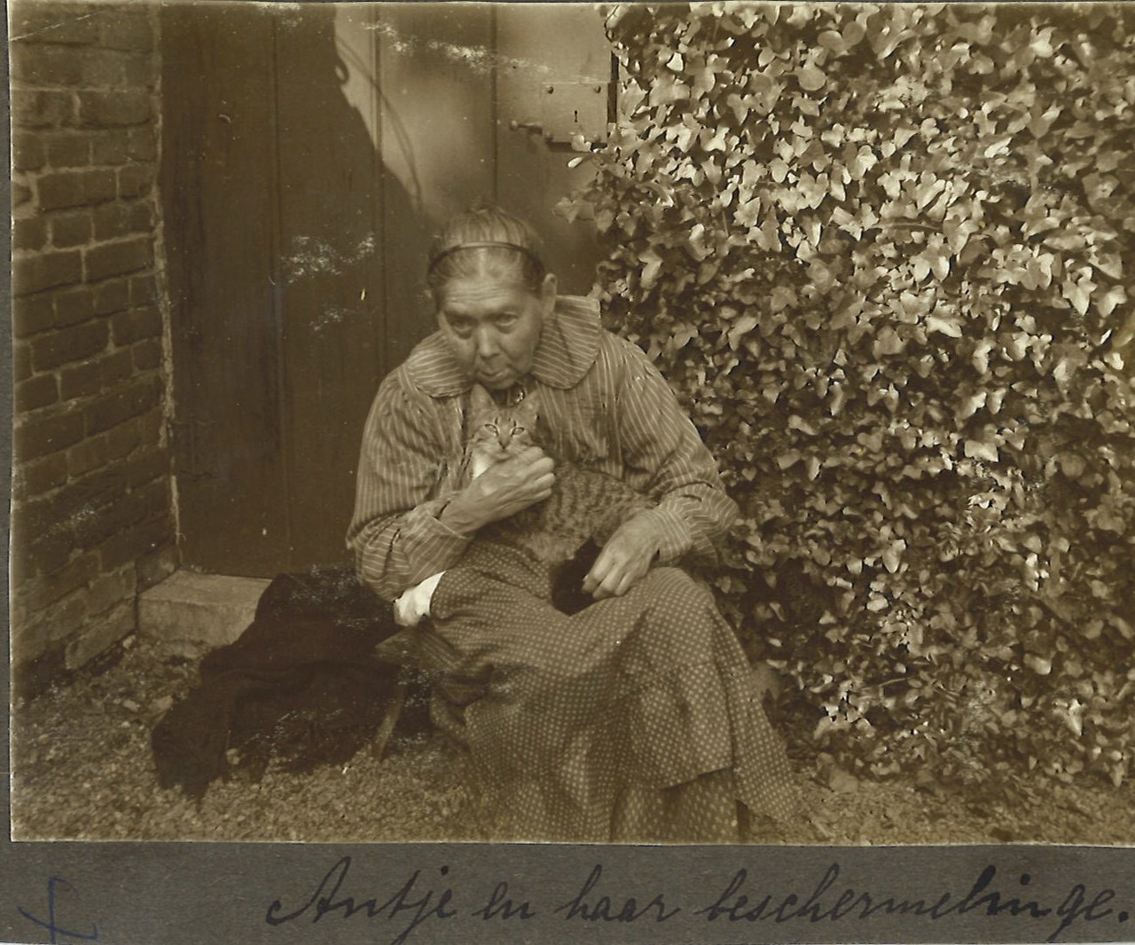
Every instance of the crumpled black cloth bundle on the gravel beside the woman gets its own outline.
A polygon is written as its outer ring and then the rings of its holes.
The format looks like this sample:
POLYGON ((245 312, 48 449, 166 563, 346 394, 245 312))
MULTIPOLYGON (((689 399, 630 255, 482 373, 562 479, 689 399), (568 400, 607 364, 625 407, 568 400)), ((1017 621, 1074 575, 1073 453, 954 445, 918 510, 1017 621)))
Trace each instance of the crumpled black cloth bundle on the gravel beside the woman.
MULTIPOLYGON (((201 686, 154 727, 158 783, 201 797, 234 764, 259 780, 272 756, 294 771, 346 762, 400 696, 404 670, 375 655, 400 629, 348 569, 275 578, 253 622, 205 654, 201 686)), ((404 712, 402 724, 424 727, 424 714, 404 712)))

